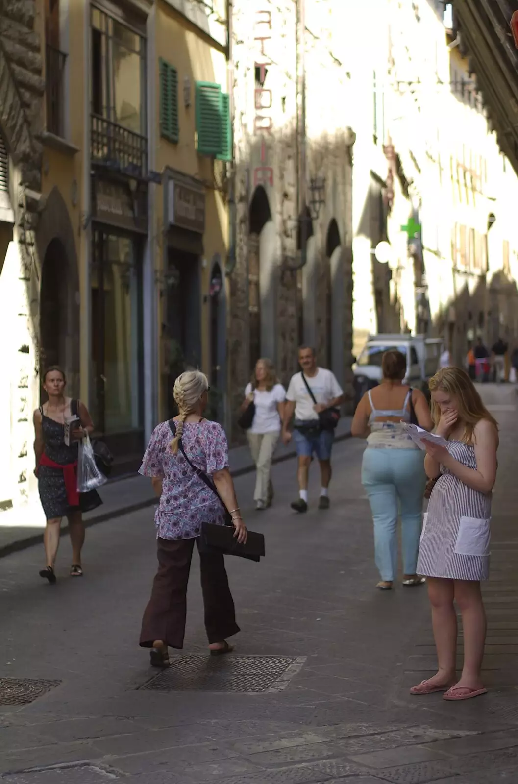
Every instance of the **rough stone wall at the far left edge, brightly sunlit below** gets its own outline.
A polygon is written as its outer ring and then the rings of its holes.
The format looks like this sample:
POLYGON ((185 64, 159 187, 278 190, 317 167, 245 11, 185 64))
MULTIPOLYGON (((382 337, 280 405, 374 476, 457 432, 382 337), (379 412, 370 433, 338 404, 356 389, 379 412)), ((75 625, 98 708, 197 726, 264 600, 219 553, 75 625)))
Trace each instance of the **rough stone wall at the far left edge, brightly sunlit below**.
MULTIPOLYGON (((2 260, 0 300, 9 332, 2 365, 9 368, 2 409, 10 416, 13 505, 27 500, 33 481, 31 412, 38 400, 39 262, 35 246, 42 185, 44 82, 34 0, 0 0, 0 130, 9 154, 9 197, 15 225, 2 260)), ((2 428, 3 429, 3 428, 2 428)), ((0 499, 2 501, 3 499, 0 499)))

